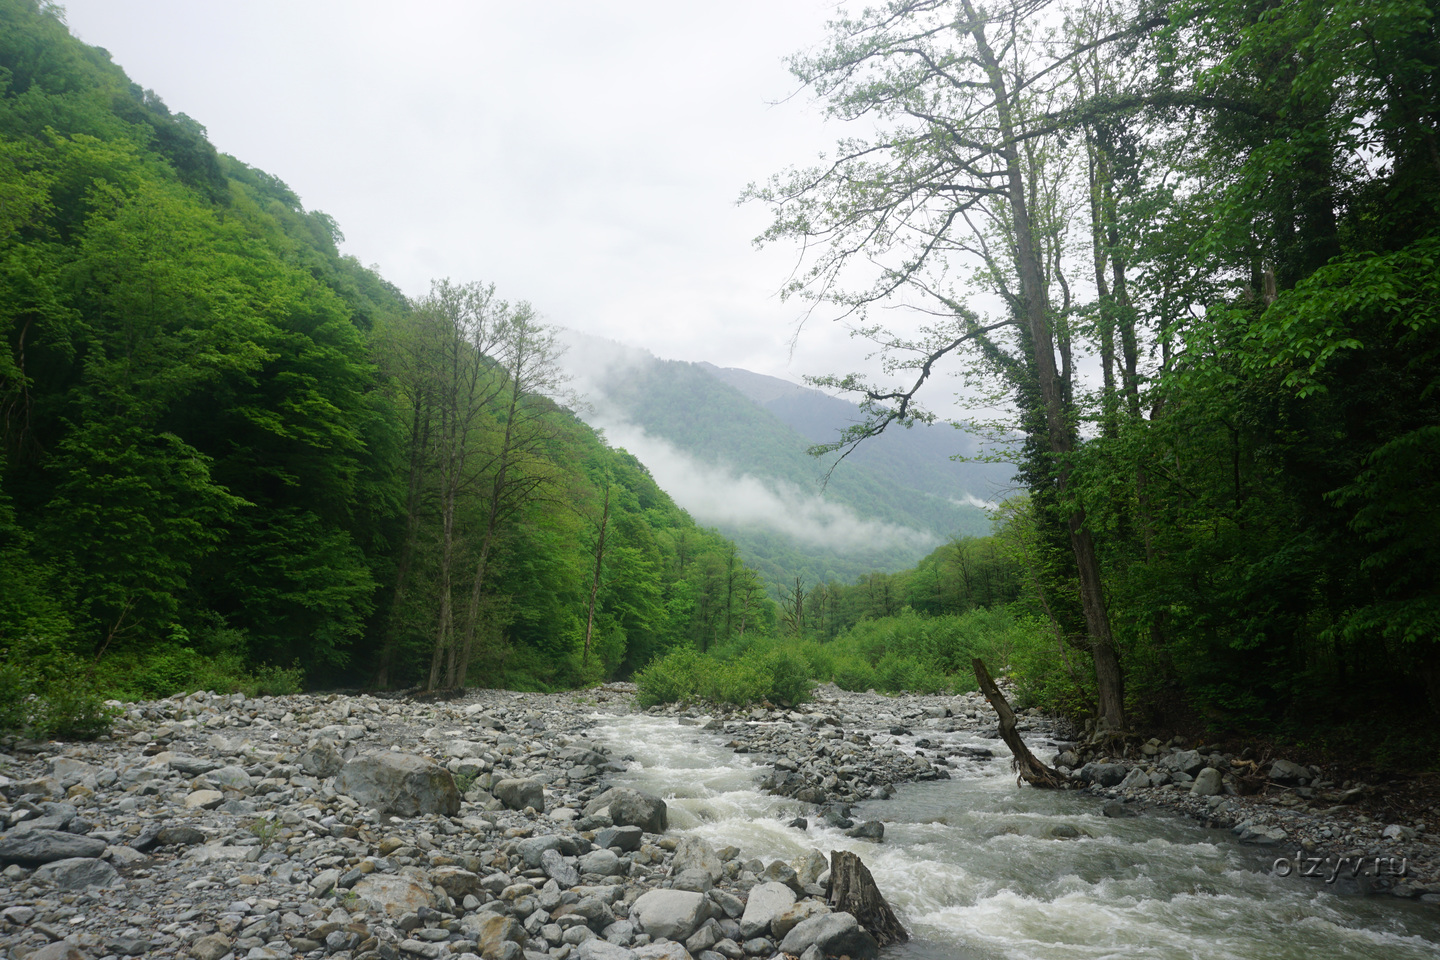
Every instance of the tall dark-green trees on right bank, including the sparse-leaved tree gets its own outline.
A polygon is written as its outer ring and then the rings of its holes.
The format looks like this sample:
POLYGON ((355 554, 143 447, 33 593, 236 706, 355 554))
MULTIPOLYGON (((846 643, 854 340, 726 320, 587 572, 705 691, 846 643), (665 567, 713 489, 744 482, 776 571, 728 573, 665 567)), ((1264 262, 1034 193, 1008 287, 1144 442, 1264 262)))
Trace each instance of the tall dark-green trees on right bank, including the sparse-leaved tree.
POLYGON ((841 446, 942 373, 1008 400, 1022 586, 1100 733, 1433 757, 1436 13, 897 0, 791 62, 854 135, 747 191, 762 240, 897 374, 825 380, 870 413, 841 446))

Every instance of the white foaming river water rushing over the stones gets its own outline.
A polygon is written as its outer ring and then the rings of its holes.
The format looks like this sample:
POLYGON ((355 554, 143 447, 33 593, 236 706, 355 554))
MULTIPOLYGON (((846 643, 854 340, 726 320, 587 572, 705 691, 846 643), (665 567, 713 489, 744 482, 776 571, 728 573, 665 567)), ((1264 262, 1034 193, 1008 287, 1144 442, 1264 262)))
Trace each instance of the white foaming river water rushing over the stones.
POLYGON ((1017 787, 999 741, 926 731, 996 757, 857 806, 854 819, 886 822, 873 843, 785 826, 805 805, 760 793, 765 767, 697 727, 636 714, 603 718, 593 734, 631 757, 618 783, 667 799, 671 832, 766 862, 858 853, 913 937, 884 953, 891 960, 1440 957, 1433 905, 1280 879, 1270 864, 1295 851, 1243 846, 1178 818, 1107 819, 1092 796, 1017 787))

